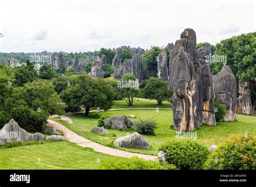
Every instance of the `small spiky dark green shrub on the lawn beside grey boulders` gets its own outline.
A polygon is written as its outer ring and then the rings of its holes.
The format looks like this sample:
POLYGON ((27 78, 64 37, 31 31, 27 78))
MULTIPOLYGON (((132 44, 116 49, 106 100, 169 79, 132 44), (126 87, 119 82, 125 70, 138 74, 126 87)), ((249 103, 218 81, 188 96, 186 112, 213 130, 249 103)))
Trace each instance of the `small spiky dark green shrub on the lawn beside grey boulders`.
POLYGON ((145 134, 145 135, 156 135, 154 133, 154 130, 156 130, 156 122, 154 120, 142 120, 139 118, 139 121, 134 122, 135 130, 139 134, 145 134))

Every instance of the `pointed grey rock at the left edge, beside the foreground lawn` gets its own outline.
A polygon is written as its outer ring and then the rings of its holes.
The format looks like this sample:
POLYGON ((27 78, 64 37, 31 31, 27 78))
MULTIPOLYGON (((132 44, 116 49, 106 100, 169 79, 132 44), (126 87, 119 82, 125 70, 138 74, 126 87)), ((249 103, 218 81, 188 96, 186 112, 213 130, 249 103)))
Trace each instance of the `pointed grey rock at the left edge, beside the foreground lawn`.
POLYGON ((8 124, 5 124, 0 130, 0 145, 6 142, 25 142, 25 141, 43 141, 44 135, 41 133, 29 133, 19 127, 18 123, 11 119, 8 124))

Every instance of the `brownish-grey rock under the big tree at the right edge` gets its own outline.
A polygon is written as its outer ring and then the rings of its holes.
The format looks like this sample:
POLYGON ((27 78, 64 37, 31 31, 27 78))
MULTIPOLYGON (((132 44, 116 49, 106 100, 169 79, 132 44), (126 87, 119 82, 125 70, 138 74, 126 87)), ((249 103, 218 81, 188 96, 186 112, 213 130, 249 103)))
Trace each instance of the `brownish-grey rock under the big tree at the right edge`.
MULTIPOLYGON (((245 115, 255 114, 255 103, 252 104, 251 82, 238 82, 237 113, 245 115)), ((255 90, 255 88, 254 88, 255 90)))

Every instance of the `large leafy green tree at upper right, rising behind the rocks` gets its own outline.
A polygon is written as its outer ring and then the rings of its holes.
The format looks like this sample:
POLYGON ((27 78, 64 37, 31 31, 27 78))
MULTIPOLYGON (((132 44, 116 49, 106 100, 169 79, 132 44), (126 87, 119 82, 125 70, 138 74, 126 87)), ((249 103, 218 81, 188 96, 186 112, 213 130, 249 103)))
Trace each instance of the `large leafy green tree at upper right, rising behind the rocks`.
MULTIPOLYGON (((256 76, 256 32, 241 34, 221 40, 214 55, 227 55, 227 65, 242 81, 253 81, 256 76)), ((210 63, 213 74, 217 74, 224 63, 210 63)))

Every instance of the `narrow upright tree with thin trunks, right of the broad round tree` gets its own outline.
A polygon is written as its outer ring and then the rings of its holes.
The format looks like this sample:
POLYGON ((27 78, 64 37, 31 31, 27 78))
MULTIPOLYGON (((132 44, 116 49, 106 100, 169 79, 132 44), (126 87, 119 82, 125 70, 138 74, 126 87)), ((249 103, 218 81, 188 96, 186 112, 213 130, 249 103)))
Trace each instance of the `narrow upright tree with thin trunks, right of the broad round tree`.
POLYGON ((118 87, 120 89, 120 95, 124 98, 129 106, 132 106, 134 100, 138 97, 139 90, 138 88, 133 87, 130 82, 133 83, 133 85, 136 83, 135 75, 131 73, 124 74, 119 81, 118 87))

